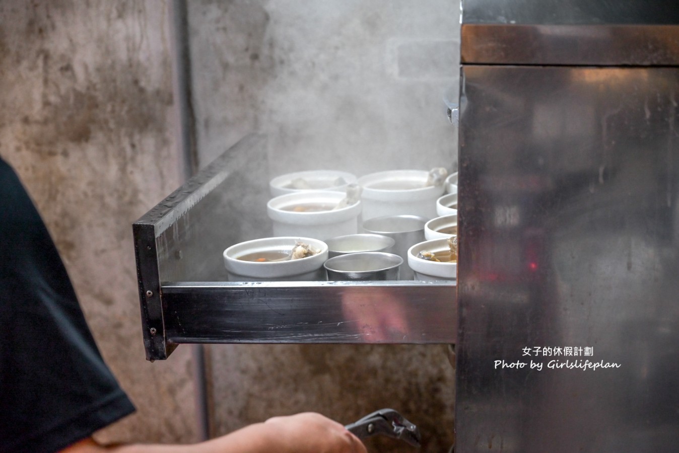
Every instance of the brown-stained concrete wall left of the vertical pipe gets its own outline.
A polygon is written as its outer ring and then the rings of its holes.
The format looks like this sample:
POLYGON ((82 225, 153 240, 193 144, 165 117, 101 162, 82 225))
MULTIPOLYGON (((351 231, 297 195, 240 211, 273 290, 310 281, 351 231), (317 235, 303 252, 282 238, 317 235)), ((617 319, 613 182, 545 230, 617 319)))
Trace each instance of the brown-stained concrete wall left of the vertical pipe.
POLYGON ((198 439, 191 349, 149 363, 132 222, 179 186, 168 3, 0 3, 0 155, 54 237, 136 414, 104 441, 198 439))

